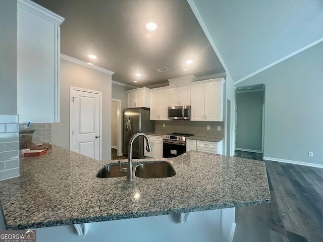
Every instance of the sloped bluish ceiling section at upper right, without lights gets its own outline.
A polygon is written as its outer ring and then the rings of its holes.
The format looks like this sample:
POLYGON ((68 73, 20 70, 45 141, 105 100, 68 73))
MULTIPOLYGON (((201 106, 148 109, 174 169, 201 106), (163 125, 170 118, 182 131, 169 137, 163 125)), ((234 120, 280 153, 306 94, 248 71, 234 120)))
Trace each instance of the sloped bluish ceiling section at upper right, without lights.
POLYGON ((322 0, 188 2, 236 83, 323 40, 322 0))

